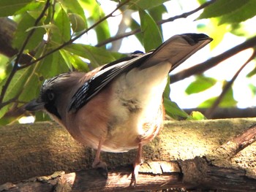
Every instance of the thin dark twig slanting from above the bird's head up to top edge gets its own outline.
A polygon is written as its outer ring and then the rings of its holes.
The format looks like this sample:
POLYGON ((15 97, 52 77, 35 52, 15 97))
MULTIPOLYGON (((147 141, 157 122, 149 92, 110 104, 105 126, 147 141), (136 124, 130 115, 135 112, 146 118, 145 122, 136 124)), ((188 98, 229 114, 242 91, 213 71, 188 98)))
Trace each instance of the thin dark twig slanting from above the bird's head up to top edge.
POLYGON ((123 3, 119 4, 118 7, 116 7, 116 9, 113 10, 113 12, 110 12, 110 14, 106 15, 104 18, 100 19, 97 21, 97 23, 94 23, 91 27, 87 28, 86 30, 84 30, 83 32, 81 32, 78 36, 70 39, 68 42, 64 42, 62 45, 60 45, 59 47, 56 47, 53 50, 50 50, 48 53, 45 53, 45 55, 42 55, 41 57, 37 58, 34 61, 31 61, 29 64, 20 66, 19 69, 23 69, 26 68, 27 66, 31 66, 32 64, 37 63, 38 61, 42 60, 43 58, 45 58, 46 56, 56 52, 57 50, 61 50, 63 47, 66 47, 67 45, 72 44, 72 42, 75 42, 75 40, 79 39, 80 37, 83 36, 83 34, 86 34, 88 31, 90 31, 92 28, 94 28, 95 26, 99 25, 99 23, 102 23, 104 20, 107 20, 108 18, 112 17, 113 13, 116 12, 116 10, 118 10, 120 7, 124 6, 124 4, 127 4, 129 2, 129 0, 124 1, 123 3))

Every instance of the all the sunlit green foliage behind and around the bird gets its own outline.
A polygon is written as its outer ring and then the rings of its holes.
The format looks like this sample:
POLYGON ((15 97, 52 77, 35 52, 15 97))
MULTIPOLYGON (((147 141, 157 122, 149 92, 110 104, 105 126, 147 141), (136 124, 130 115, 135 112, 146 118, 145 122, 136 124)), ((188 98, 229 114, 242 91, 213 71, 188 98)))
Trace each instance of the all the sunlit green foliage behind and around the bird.
MULTIPOLYGON (((207 24, 198 26, 198 31, 214 38, 211 49, 222 42, 227 32, 246 38, 255 35, 248 33, 243 26, 255 16, 255 0, 200 0, 197 9, 168 20, 163 20, 163 15, 167 12, 167 0, 108 1, 116 2, 116 9, 110 13, 105 12, 102 5, 95 0, 0 1, 0 18, 10 17, 17 23, 12 39, 12 47, 16 53, 10 58, 0 56, 0 124, 15 122, 24 115, 23 104, 38 96, 39 87, 48 77, 74 70, 88 72, 123 57, 124 54, 118 53, 118 50, 110 51, 111 43, 118 39, 135 35, 146 51, 156 48, 162 43, 163 37, 160 23, 186 18, 203 9, 197 20, 207 19, 207 24), (129 18, 121 20, 129 20, 126 28, 132 31, 111 35, 108 18, 123 14, 127 10, 138 13, 139 17, 139 20, 136 20, 129 15, 129 18), (96 45, 92 45, 91 39, 87 39, 88 42, 83 44, 78 42, 80 37, 85 37, 88 33, 95 34, 96 45), (30 56, 31 60, 21 62, 24 55, 30 56)), ((116 23, 116 26, 118 25, 119 23, 116 23)), ((248 46, 255 47, 255 44, 248 46)), ((228 57, 230 55, 226 55, 226 58, 228 57)), ((249 76, 253 77, 254 74, 255 69, 249 76)), ((187 87, 186 92, 200 94, 217 82, 214 77, 200 74, 187 87)), ((250 84, 249 87, 255 91, 255 86, 250 84)), ((169 91, 167 88, 165 92, 167 115, 178 119, 200 118, 197 113, 187 115, 180 110, 177 104, 168 99, 169 91)), ((211 107, 215 100, 216 98, 209 98, 200 106, 211 107)), ((236 106, 232 88, 227 91, 221 106, 236 106)), ((37 117, 39 120, 45 119, 42 113, 38 113, 37 117)))

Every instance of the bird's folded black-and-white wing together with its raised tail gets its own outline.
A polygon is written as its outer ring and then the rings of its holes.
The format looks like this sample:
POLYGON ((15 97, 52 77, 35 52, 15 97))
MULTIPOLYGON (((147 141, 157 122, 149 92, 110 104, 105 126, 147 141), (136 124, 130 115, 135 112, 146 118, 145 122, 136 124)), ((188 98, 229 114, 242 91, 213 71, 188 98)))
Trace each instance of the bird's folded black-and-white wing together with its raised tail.
MULTIPOLYGON (((168 39, 156 50, 145 54, 137 54, 130 58, 114 61, 102 67, 90 80, 86 81, 72 96, 69 104, 69 112, 77 112, 93 96, 99 93, 108 83, 124 71, 134 67, 140 69, 169 61, 172 69, 185 61, 197 50, 211 42, 211 38, 205 34, 181 34, 168 39)), ((170 69, 171 70, 171 69, 170 69)))

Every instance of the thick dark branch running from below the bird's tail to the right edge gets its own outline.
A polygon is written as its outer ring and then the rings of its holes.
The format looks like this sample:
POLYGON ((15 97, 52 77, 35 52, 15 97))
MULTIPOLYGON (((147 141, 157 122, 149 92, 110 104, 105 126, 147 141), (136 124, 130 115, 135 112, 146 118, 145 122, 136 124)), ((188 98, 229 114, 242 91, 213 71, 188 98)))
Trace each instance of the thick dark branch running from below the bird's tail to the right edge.
POLYGON ((231 48, 230 50, 225 51, 222 54, 217 55, 216 57, 210 58, 208 61, 205 61, 201 64, 185 69, 182 72, 170 75, 170 83, 177 82, 179 80, 184 80, 187 77, 192 76, 193 74, 202 74, 208 69, 211 69, 214 66, 217 66, 220 62, 224 61, 227 58, 230 58, 233 55, 236 55, 242 50, 249 49, 256 46, 256 36, 251 39, 246 40, 245 42, 237 45, 236 47, 231 48))

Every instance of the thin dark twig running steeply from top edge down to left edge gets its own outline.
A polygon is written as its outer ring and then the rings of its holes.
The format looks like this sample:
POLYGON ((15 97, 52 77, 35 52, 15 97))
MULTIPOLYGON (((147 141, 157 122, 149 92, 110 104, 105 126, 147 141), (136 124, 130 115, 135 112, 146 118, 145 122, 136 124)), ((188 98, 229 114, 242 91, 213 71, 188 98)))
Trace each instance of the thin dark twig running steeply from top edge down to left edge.
MULTIPOLYGON (((34 26, 37 26, 37 24, 39 23, 39 21, 42 19, 42 17, 45 15, 45 12, 46 10, 48 9, 48 7, 50 6, 50 0, 46 1, 45 3, 45 7, 44 9, 42 9, 42 12, 41 14, 39 15, 39 17, 37 18, 37 20, 34 22, 34 26)), ((34 34, 34 31, 36 30, 36 28, 32 28, 31 31, 29 32, 28 36, 26 37, 22 47, 20 48, 20 51, 18 52, 18 55, 17 55, 17 58, 15 59, 15 63, 14 63, 14 66, 12 68, 12 71, 10 72, 10 75, 9 77, 7 78, 7 82, 5 82, 2 90, 1 90, 1 95, 0 95, 0 108, 1 107, 4 107, 6 104, 8 104, 8 101, 7 102, 4 102, 4 104, 2 103, 2 101, 4 100, 4 95, 7 91, 7 88, 8 86, 10 85, 10 82, 12 80, 12 77, 14 77, 15 73, 18 71, 19 67, 18 67, 18 64, 19 64, 19 61, 20 61, 20 58, 21 58, 21 55, 23 55, 23 51, 25 50, 25 47, 26 45, 28 44, 29 42, 29 39, 31 38, 32 34, 34 34)))

